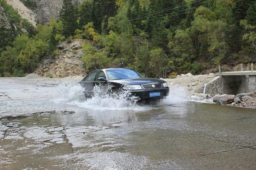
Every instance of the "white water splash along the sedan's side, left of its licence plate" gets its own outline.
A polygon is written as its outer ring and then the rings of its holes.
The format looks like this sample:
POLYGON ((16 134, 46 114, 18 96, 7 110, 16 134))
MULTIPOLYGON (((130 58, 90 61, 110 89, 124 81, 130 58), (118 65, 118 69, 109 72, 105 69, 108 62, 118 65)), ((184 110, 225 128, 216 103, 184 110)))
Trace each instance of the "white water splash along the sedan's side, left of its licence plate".
POLYGON ((84 87, 79 84, 62 84, 58 87, 60 99, 57 101, 67 101, 69 105, 93 109, 93 110, 144 110, 144 107, 137 105, 138 99, 128 91, 120 91, 118 97, 112 95, 111 91, 102 90, 101 86, 95 86, 94 96, 86 99, 84 97, 84 87))

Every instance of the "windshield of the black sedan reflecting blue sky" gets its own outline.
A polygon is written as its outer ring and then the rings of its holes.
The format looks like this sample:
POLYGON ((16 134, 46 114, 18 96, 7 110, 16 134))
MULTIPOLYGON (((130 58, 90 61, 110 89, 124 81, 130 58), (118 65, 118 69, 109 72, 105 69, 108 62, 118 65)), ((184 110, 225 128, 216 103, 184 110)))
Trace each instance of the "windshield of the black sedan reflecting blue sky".
POLYGON ((108 77, 110 80, 116 79, 134 79, 134 78, 142 78, 144 77, 140 73, 137 73, 131 69, 110 69, 106 70, 108 77))

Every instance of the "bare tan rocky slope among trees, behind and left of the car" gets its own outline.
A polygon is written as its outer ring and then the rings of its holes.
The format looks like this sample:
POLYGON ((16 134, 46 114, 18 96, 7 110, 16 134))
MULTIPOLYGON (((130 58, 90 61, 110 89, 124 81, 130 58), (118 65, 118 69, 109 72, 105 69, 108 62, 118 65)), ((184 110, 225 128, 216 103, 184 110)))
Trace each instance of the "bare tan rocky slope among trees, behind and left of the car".
POLYGON ((68 77, 74 75, 84 76, 86 67, 81 58, 82 43, 84 40, 76 39, 72 42, 63 42, 58 46, 60 54, 56 57, 46 58, 36 69, 35 73, 44 77, 68 77))

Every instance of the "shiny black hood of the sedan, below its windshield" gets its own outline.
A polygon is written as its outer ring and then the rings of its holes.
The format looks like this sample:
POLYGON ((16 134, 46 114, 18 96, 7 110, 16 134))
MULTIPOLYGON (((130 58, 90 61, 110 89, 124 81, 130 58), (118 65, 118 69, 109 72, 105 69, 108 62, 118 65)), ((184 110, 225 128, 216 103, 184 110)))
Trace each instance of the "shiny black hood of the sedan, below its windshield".
POLYGON ((120 83, 123 85, 143 85, 148 83, 166 83, 164 80, 152 79, 152 78, 136 78, 136 79, 119 79, 110 80, 109 82, 120 83))

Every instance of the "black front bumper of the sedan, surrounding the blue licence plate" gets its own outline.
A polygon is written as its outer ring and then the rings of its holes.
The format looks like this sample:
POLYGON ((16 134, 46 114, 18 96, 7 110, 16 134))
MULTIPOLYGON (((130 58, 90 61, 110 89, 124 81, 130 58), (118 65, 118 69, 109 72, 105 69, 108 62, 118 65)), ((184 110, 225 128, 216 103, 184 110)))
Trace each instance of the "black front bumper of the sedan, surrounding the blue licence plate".
POLYGON ((141 89, 141 90, 129 90, 132 95, 139 97, 140 99, 147 99, 147 98, 163 98, 168 96, 169 94, 169 87, 162 87, 159 89, 141 89), (159 97, 150 97, 149 93, 160 93, 159 97))

